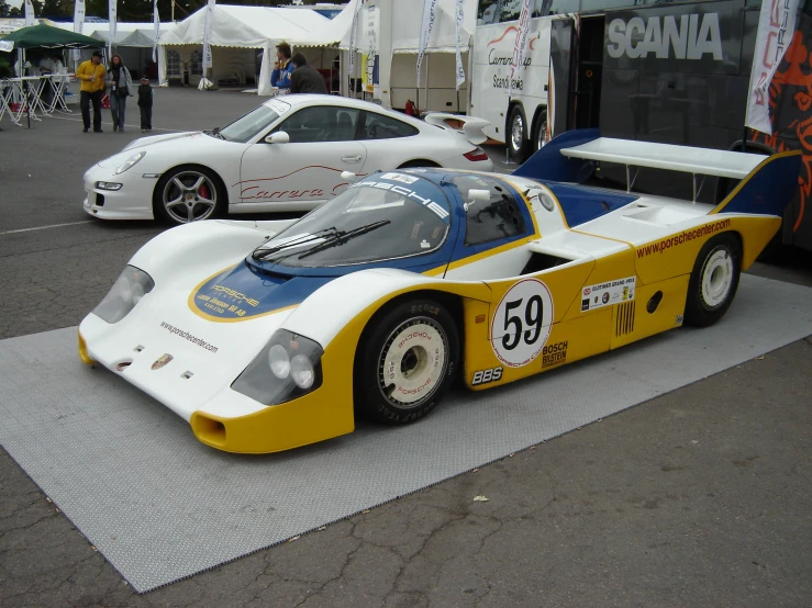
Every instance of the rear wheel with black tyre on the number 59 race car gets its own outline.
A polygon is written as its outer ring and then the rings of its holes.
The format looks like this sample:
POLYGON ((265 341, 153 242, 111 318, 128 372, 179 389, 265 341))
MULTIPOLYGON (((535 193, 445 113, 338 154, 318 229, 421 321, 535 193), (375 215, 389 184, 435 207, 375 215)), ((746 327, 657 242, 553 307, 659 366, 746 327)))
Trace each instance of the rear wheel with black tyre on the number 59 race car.
POLYGON ((730 308, 742 274, 742 246, 732 233, 702 246, 688 282, 685 324, 708 327, 730 308))

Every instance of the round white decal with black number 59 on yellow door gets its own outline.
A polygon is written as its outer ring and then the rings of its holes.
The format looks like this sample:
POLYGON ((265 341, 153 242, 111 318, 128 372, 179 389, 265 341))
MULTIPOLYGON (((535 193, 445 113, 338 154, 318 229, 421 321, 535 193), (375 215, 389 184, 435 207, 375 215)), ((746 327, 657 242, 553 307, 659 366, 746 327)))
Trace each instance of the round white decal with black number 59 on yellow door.
POLYGON ((502 296, 491 322, 491 346, 497 358, 511 368, 538 357, 553 324, 553 297, 547 285, 524 279, 502 296))

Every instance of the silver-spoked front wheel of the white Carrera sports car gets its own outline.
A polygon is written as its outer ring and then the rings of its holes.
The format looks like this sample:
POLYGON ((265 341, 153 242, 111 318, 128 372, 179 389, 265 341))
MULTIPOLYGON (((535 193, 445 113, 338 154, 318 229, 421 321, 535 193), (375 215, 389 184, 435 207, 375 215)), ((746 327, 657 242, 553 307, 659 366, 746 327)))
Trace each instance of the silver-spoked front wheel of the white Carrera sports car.
POLYGON ((188 224, 216 217, 224 209, 225 187, 210 169, 181 166, 158 180, 153 194, 153 212, 169 224, 188 224))

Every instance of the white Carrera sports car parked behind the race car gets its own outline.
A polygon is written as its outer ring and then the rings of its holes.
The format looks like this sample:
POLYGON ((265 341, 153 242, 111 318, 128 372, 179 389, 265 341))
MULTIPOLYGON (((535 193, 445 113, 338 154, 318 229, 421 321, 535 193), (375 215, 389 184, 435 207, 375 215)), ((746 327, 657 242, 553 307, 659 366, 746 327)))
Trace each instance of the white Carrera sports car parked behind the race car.
POLYGON ((223 128, 135 139, 85 173, 85 211, 186 224, 226 212, 310 210, 346 188, 344 171, 490 171, 478 147, 487 124, 440 113, 420 121, 335 95, 274 98, 223 128))

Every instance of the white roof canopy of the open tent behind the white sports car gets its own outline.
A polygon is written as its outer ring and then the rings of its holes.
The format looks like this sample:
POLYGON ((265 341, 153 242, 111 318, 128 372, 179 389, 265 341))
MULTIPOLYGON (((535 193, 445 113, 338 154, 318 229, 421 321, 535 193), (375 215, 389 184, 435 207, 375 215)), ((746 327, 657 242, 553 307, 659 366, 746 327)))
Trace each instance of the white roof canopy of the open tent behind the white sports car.
MULTIPOLYGON (((201 45, 205 27, 203 7, 160 35, 162 45, 201 45)), ((211 45, 264 48, 268 41, 311 46, 314 33, 330 24, 313 10, 215 4, 212 9, 211 45)))

